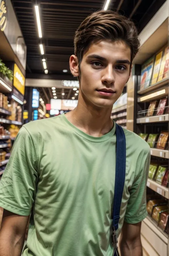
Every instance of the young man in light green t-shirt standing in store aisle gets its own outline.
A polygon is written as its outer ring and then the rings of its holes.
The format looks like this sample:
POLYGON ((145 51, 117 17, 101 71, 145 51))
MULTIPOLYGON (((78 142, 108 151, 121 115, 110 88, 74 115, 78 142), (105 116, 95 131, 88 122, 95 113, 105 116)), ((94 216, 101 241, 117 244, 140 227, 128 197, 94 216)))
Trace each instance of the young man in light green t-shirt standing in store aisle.
MULTIPOLYGON (((88 16, 76 31, 70 69, 80 81, 72 112, 24 125, 0 182, 0 256, 112 256, 116 169, 114 102, 138 52, 134 24, 112 11, 88 16)), ((142 256, 149 146, 126 136, 126 179, 118 235, 122 256, 142 256)))

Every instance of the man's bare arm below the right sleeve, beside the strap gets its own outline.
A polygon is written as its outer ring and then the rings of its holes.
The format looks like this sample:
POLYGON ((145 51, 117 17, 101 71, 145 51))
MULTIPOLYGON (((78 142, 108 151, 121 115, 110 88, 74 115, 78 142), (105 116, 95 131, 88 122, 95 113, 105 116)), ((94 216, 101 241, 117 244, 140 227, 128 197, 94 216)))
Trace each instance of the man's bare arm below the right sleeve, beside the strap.
POLYGON ((140 232, 141 222, 137 224, 124 222, 119 243, 121 256, 143 256, 140 232))

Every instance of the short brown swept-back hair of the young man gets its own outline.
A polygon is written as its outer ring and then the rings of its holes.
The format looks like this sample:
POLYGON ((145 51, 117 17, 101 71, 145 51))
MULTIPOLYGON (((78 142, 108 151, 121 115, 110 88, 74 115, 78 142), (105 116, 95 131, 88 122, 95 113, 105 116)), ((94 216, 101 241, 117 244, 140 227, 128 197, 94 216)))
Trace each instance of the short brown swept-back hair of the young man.
POLYGON ((75 32, 75 55, 79 63, 89 45, 100 39, 124 41, 131 49, 131 63, 140 46, 137 28, 131 20, 111 10, 96 11, 89 15, 75 32))

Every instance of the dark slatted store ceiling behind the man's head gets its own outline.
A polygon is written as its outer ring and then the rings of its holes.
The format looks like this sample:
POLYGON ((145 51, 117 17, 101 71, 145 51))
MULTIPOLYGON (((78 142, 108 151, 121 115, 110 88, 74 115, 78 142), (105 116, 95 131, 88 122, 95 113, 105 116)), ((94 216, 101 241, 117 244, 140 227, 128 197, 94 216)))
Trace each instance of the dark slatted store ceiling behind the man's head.
MULTIPOLYGON (((73 54, 73 35, 82 20, 103 8, 104 0, 12 0, 27 45, 27 77, 44 74, 39 50, 34 5, 39 4, 42 42, 45 48, 48 75, 56 79, 70 76, 69 58, 73 54), (64 74, 63 69, 68 70, 64 74)), ((133 19, 139 32, 165 0, 112 0, 109 9, 133 19)))

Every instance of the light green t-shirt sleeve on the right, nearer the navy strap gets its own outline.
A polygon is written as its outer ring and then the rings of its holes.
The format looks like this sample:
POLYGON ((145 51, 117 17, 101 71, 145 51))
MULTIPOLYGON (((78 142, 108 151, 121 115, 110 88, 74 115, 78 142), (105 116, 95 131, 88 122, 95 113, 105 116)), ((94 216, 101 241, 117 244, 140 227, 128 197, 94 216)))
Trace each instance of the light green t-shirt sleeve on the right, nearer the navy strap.
POLYGON ((129 190, 130 197, 124 221, 135 224, 143 221, 147 216, 146 187, 150 165, 150 148, 144 153, 142 166, 139 174, 135 177, 132 187, 129 190))

